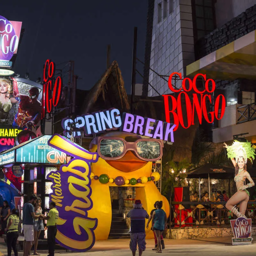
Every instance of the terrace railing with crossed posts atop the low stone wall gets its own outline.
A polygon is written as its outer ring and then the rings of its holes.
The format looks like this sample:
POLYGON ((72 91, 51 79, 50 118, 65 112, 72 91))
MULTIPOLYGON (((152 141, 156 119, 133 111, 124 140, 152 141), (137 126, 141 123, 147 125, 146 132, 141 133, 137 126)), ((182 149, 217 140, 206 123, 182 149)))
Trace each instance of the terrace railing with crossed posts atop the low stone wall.
MULTIPOLYGON (((228 225, 230 219, 237 217, 225 204, 226 202, 171 202, 171 227, 228 225), (190 206, 186 209, 184 205, 190 206)), ((256 224, 256 201, 248 202, 245 215, 252 219, 252 224, 256 224)))

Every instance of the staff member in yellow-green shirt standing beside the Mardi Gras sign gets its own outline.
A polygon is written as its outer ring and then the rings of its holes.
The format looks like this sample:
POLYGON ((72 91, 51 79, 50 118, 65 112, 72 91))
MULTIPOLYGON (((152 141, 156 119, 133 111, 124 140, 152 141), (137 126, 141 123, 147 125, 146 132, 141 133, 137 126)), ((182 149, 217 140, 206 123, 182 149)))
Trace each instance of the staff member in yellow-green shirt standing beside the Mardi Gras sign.
POLYGON ((50 211, 47 216, 44 216, 43 219, 47 220, 47 244, 49 249, 48 256, 54 256, 54 247, 55 247, 55 236, 57 234, 56 221, 59 219, 59 212, 56 209, 56 204, 54 202, 50 203, 50 211))

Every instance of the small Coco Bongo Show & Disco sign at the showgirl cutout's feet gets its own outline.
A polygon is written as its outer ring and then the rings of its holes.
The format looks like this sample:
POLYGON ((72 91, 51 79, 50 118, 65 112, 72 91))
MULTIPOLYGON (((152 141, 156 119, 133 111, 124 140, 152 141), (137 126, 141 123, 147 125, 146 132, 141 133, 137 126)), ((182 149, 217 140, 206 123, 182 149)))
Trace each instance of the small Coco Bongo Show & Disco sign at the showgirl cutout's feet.
POLYGON ((232 245, 252 244, 252 219, 240 217, 230 223, 234 234, 232 245))

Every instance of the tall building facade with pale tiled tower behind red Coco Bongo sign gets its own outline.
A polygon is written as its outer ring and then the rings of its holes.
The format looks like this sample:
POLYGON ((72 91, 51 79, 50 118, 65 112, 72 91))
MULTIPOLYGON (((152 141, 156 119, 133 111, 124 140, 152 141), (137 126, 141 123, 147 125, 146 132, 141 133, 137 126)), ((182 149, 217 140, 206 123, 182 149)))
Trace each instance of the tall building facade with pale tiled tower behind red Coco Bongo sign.
MULTIPOLYGON (((225 115, 214 123, 212 141, 243 136, 256 143, 256 0, 153 2, 148 7, 152 36, 146 42, 151 40, 151 49, 145 53, 145 67, 151 70, 144 71, 144 95, 156 96, 147 79, 160 94, 169 94, 172 72, 183 77, 206 74, 216 82, 212 100, 218 94, 226 99, 225 115)), ((181 81, 175 85, 180 88, 181 81)))

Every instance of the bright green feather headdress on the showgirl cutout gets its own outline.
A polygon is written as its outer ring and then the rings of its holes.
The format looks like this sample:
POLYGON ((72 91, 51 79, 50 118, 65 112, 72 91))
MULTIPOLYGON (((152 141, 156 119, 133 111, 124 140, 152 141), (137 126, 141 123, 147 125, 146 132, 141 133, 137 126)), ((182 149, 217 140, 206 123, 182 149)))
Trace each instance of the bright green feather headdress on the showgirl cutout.
POLYGON ((240 142, 234 140, 231 146, 227 148, 228 158, 236 158, 236 163, 239 158, 244 158, 245 164, 247 163, 247 158, 254 160, 255 150, 252 148, 251 142, 240 142))

